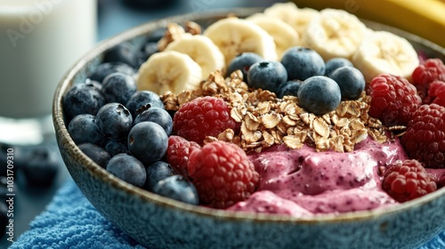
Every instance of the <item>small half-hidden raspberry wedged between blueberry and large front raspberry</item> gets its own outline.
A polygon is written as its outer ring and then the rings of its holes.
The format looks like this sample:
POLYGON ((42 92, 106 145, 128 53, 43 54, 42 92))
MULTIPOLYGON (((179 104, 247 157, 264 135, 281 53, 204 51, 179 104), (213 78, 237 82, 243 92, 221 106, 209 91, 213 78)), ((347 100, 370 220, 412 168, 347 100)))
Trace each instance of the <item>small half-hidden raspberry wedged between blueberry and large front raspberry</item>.
POLYGON ((187 163, 189 162, 190 153, 194 149, 201 148, 194 141, 187 141, 180 136, 171 135, 168 138, 168 148, 166 152, 166 160, 172 165, 177 173, 185 177, 189 177, 187 163))

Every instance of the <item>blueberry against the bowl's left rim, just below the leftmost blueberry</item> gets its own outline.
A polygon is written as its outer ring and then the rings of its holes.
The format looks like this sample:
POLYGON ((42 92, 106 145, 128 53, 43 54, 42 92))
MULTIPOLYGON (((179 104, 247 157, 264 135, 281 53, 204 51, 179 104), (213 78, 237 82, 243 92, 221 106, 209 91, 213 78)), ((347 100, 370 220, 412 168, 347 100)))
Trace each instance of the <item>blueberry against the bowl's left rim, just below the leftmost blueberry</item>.
POLYGON ((90 142, 103 146, 107 141, 97 128, 96 116, 91 114, 80 114, 71 119, 68 124, 68 132, 76 144, 90 142))

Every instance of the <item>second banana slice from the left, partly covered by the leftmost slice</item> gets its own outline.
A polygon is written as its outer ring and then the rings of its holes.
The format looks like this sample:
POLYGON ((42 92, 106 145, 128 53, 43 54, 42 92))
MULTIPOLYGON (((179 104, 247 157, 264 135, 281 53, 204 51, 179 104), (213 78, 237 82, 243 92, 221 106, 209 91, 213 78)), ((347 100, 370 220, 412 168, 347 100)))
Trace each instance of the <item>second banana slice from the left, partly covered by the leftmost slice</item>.
POLYGON ((182 52, 190 56, 202 69, 201 79, 206 79, 210 73, 223 70, 225 60, 223 52, 207 36, 182 36, 166 46, 165 51, 182 52))

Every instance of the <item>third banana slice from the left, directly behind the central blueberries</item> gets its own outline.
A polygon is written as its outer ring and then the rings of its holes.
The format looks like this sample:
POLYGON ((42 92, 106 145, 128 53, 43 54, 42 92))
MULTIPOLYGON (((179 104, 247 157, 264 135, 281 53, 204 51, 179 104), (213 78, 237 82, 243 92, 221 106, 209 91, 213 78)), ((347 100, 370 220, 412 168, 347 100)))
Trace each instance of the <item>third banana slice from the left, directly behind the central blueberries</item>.
POLYGON ((204 31, 223 52, 225 64, 241 52, 255 52, 264 60, 277 60, 272 36, 251 21, 229 17, 217 20, 204 31))

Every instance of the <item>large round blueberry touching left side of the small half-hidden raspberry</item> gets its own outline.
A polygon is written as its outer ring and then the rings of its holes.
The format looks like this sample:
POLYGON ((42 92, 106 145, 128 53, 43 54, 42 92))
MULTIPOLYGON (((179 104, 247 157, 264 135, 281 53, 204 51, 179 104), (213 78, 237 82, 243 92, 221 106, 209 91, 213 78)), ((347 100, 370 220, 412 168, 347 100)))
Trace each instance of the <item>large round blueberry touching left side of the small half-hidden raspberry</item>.
POLYGON ((128 134, 128 149, 144 165, 164 157, 167 146, 168 136, 164 128, 150 121, 135 124, 128 134))

